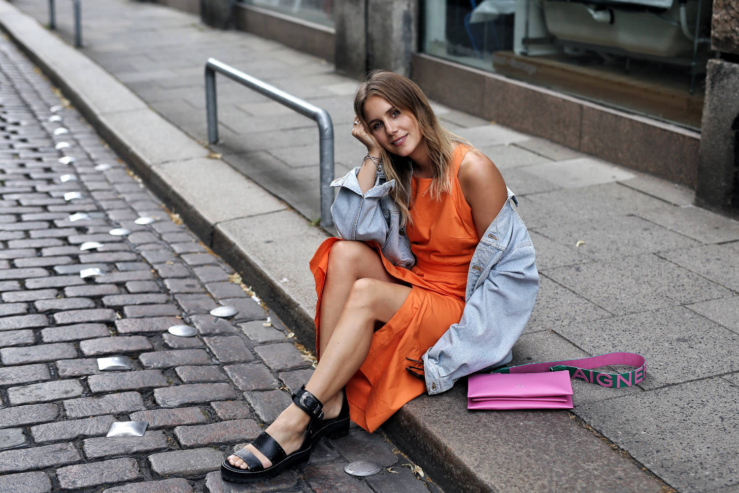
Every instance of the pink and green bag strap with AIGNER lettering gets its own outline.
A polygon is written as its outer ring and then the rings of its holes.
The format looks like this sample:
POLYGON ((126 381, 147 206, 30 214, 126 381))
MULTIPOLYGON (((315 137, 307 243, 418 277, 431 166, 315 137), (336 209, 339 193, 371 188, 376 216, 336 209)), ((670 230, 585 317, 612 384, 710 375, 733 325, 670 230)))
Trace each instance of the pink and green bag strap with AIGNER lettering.
POLYGON ((587 381, 588 384, 598 384, 602 387, 631 387, 644 380, 647 370, 647 360, 636 353, 607 353, 590 358, 568 359, 563 361, 546 361, 544 363, 522 364, 517 367, 501 368, 493 373, 542 373, 567 370, 570 378, 587 381), (579 366, 575 366, 575 365, 579 366), (594 372, 592 368, 605 367, 610 364, 625 364, 636 367, 627 373, 594 372))

